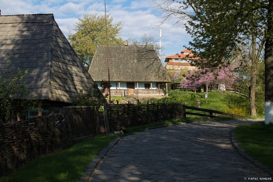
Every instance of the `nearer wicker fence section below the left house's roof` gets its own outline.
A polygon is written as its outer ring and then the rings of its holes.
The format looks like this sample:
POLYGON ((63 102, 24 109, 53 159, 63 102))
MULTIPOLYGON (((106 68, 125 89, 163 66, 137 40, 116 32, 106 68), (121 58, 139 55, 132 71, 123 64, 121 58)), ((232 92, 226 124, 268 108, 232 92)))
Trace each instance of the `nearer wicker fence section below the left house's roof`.
POLYGON ((104 114, 92 106, 66 107, 61 114, 4 124, 0 127, 0 176, 99 133, 105 133, 104 114))

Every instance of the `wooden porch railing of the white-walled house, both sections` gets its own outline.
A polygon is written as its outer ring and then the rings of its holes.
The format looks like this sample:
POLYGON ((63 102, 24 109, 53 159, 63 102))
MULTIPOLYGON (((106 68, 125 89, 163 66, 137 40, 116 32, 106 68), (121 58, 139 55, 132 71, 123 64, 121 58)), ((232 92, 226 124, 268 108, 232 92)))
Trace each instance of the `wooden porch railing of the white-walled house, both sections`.
MULTIPOLYGON (((111 95, 116 96, 128 96, 132 94, 129 89, 112 89, 111 95)), ((164 95, 162 89, 134 89, 134 95, 164 95)))

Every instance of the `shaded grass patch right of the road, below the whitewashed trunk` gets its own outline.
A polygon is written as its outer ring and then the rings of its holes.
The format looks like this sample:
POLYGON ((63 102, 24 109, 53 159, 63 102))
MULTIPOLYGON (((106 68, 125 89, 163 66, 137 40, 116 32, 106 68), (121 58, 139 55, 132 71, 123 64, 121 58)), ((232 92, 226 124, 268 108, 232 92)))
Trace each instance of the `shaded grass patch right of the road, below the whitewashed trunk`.
POLYGON ((254 159, 273 169, 273 124, 264 122, 237 126, 236 141, 254 159))

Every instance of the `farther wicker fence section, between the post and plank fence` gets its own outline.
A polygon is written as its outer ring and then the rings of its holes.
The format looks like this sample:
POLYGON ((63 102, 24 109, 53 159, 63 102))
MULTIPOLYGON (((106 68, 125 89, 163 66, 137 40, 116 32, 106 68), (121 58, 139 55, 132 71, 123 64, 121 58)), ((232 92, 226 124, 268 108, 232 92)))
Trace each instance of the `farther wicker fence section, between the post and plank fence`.
POLYGON ((110 131, 183 117, 183 104, 115 104, 108 106, 110 131))

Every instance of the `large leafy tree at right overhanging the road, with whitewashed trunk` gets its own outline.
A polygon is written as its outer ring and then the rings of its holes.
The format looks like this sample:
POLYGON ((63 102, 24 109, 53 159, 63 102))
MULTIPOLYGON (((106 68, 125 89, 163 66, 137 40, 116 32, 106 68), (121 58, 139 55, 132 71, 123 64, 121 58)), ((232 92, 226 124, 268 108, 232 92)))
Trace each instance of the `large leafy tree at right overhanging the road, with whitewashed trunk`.
POLYGON ((202 58, 197 63, 200 67, 229 65, 232 53, 240 51, 238 45, 244 45, 249 38, 252 93, 265 43, 265 122, 273 122, 273 0, 161 0, 157 4, 166 12, 163 22, 171 16, 178 17, 179 23, 186 20, 182 24, 193 37, 191 48, 202 58))

